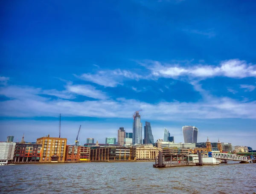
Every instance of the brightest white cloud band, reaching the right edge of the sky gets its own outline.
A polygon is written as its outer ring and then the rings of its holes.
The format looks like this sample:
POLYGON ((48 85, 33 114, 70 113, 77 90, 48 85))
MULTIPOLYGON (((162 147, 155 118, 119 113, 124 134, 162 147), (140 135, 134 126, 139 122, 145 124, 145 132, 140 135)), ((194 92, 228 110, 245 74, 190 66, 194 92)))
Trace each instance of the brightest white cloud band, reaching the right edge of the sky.
POLYGON ((161 64, 159 61, 146 61, 140 63, 151 70, 152 75, 160 78, 178 78, 188 76, 191 78, 207 78, 225 76, 230 78, 256 77, 256 65, 247 64, 238 59, 222 61, 219 66, 195 65, 180 67, 179 64, 161 64))

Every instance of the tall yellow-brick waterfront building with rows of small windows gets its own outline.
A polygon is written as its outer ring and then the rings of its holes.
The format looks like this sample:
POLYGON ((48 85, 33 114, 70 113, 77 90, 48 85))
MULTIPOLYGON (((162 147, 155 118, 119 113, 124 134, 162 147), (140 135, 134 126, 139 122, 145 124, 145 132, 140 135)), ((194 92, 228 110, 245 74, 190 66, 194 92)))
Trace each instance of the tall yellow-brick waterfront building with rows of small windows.
POLYGON ((40 162, 65 162, 67 138, 48 135, 38 138, 36 143, 42 145, 43 149, 40 162))

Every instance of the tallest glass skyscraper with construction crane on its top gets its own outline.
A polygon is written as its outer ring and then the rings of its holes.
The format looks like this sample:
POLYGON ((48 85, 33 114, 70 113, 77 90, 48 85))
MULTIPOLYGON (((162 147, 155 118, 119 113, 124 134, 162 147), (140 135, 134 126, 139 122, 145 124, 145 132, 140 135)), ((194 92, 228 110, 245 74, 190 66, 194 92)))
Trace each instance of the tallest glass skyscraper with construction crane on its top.
POLYGON ((134 113, 134 123, 133 123, 133 144, 142 144, 142 123, 140 122, 139 111, 134 113))

